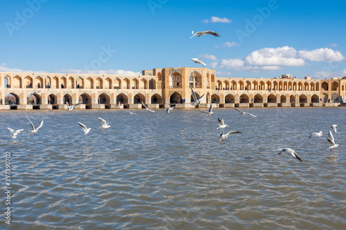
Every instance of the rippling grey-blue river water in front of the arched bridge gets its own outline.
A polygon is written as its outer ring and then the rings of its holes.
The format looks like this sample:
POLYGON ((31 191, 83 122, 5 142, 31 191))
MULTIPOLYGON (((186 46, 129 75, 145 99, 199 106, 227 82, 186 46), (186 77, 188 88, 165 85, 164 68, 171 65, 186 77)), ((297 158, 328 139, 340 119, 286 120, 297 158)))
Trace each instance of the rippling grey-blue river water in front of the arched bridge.
POLYGON ((4 229, 345 229, 346 108, 1 111, 4 229), (30 137, 30 117, 44 126, 30 137), (101 131, 98 117, 111 128, 101 131), (219 144, 217 117, 226 131, 219 144), (78 122, 90 126, 83 136, 78 122), (308 136, 331 124, 340 144, 308 136), (16 140, 7 127, 25 128, 16 140), (295 149, 304 162, 277 155, 295 149))

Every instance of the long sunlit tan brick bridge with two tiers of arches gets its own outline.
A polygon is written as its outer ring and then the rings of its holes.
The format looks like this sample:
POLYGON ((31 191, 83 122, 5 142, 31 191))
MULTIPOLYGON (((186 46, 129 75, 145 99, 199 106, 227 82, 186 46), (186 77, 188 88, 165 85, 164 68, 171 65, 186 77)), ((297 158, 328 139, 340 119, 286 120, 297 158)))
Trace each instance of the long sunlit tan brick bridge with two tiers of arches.
POLYGON ((1 109, 192 108, 192 92, 204 95, 200 107, 339 106, 346 77, 297 79, 217 77, 208 68, 154 68, 142 75, 0 73, 1 109))

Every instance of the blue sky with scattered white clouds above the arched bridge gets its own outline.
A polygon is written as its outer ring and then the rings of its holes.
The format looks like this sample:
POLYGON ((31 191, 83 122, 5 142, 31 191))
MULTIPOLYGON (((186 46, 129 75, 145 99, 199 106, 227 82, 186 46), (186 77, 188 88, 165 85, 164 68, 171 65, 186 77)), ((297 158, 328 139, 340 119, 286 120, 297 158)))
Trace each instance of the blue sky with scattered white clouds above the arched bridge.
POLYGON ((346 75, 343 1, 0 3, 0 71, 134 74, 200 67, 218 77, 346 75), (195 32, 214 30, 221 37, 195 32), (125 72, 124 72, 125 71, 125 72))

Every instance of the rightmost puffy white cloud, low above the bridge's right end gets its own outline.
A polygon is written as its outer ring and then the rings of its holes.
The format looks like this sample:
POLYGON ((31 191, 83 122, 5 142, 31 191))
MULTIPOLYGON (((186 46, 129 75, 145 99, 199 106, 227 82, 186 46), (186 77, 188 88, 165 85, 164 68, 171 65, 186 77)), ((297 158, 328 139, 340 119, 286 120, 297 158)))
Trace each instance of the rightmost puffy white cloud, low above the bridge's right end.
POLYGON ((345 57, 338 50, 332 50, 329 48, 319 48, 316 50, 300 50, 297 52, 298 56, 303 59, 309 59, 310 61, 325 61, 325 62, 334 62, 334 61, 343 61, 345 57))

